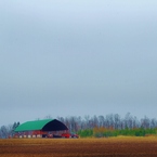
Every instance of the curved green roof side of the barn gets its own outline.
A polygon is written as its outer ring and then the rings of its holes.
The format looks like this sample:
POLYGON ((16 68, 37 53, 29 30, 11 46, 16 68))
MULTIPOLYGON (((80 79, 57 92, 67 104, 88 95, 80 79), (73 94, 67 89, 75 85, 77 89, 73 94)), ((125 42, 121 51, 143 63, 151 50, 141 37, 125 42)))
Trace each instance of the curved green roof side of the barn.
POLYGON ((15 132, 18 131, 30 131, 30 130, 42 130, 42 128, 50 121, 53 121, 53 119, 44 119, 44 120, 35 120, 35 121, 27 121, 22 125, 19 125, 15 132))

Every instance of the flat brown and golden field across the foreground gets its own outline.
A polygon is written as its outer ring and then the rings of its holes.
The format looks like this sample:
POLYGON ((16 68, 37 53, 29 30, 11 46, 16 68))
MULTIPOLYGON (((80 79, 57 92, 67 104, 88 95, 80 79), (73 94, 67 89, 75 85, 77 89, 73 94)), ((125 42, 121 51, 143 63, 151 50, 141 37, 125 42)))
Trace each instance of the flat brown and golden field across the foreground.
POLYGON ((157 138, 6 139, 0 157, 157 157, 157 138))

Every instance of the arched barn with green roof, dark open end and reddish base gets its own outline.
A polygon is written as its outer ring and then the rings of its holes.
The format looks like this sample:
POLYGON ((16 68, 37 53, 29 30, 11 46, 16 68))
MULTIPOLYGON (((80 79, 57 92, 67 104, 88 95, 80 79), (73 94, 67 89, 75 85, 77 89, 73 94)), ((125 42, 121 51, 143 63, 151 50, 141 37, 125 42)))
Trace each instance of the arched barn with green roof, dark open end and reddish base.
POLYGON ((68 128, 56 119, 44 119, 24 122, 14 132, 14 138, 61 138, 68 128))

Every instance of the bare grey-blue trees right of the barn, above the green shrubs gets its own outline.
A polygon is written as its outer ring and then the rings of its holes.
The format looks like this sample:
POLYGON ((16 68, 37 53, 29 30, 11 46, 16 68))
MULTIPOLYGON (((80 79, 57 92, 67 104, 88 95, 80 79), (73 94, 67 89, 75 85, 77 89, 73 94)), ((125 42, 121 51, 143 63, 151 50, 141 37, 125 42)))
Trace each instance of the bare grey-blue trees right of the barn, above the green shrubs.
POLYGON ((83 118, 70 116, 70 117, 57 117, 60 121, 65 123, 70 131, 78 132, 79 130, 106 128, 113 130, 122 129, 153 129, 157 128, 157 120, 148 117, 141 118, 140 120, 132 116, 130 113, 126 114, 125 118, 121 118, 118 114, 109 114, 106 116, 84 116, 83 118))

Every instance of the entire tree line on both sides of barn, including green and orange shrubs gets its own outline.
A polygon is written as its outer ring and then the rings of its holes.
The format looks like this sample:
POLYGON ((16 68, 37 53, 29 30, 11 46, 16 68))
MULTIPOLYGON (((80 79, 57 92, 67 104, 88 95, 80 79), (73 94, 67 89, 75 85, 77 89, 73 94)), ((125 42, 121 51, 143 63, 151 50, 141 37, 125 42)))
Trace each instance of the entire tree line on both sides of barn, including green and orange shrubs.
MULTIPOLYGON (((44 119, 53 119, 51 116, 44 119)), ((116 136, 116 135, 146 135, 157 133, 157 120, 144 117, 138 119, 130 113, 121 118, 118 114, 106 116, 69 116, 57 117, 57 120, 65 123, 70 132, 76 132, 80 136, 116 136)), ((0 127, 0 139, 6 139, 14 133, 19 122, 0 127)))

